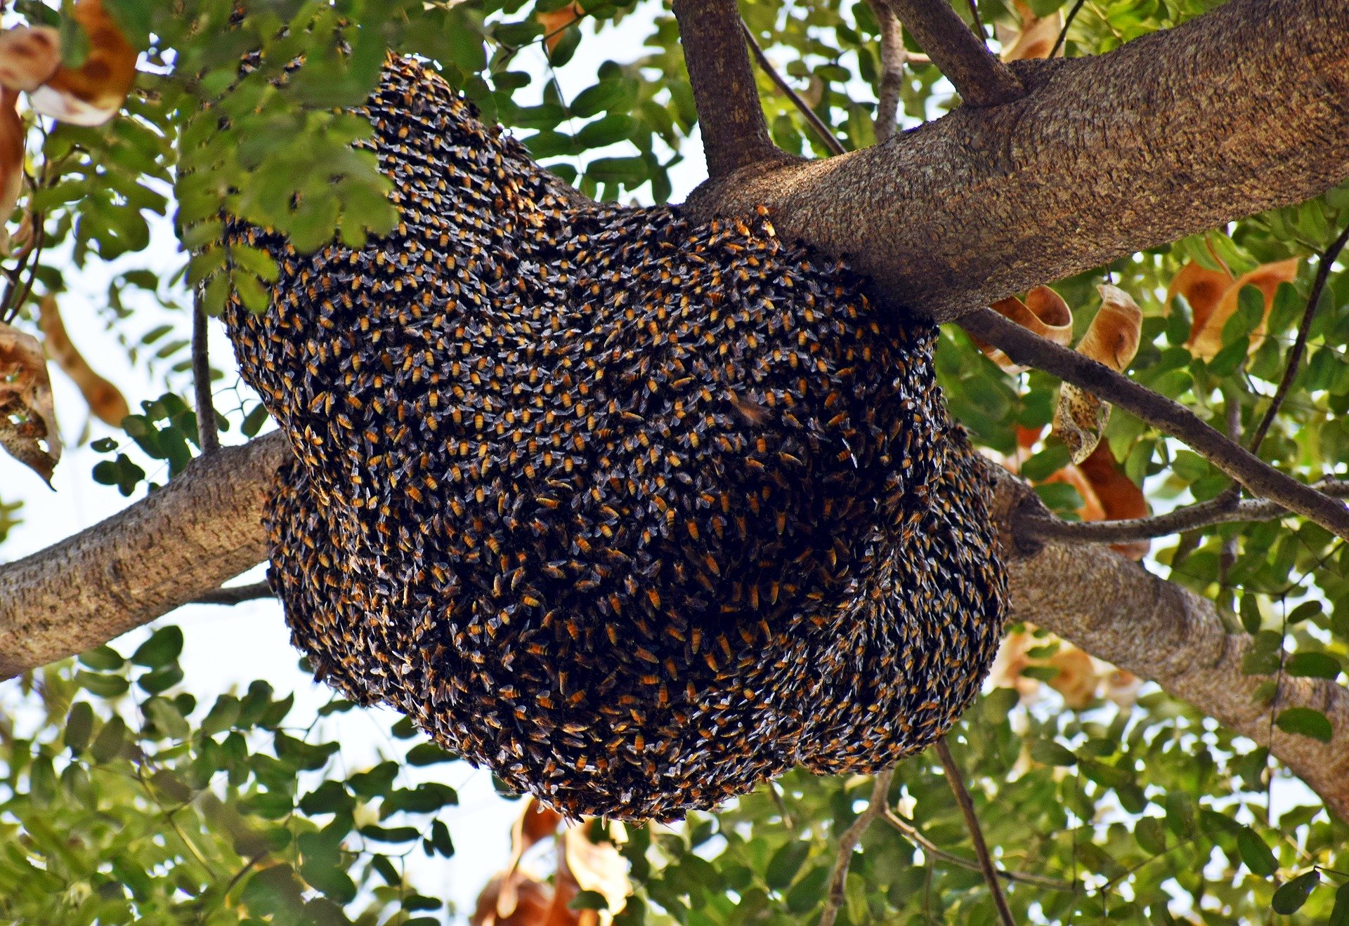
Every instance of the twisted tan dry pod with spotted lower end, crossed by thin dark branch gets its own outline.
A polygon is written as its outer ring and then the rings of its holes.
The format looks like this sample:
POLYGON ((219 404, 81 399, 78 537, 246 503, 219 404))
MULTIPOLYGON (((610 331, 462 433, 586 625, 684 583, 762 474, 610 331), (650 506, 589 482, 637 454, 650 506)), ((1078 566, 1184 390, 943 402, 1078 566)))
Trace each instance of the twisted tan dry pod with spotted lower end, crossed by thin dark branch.
MULTIPOLYGON (((1116 372, 1122 371, 1139 350, 1143 313, 1124 290, 1102 283, 1101 310, 1082 336, 1078 352, 1102 363, 1116 372)), ((1064 383, 1059 388, 1059 406, 1054 411, 1054 433, 1072 452, 1072 462, 1086 460, 1101 441, 1101 433, 1110 421, 1110 404, 1090 392, 1064 383)))

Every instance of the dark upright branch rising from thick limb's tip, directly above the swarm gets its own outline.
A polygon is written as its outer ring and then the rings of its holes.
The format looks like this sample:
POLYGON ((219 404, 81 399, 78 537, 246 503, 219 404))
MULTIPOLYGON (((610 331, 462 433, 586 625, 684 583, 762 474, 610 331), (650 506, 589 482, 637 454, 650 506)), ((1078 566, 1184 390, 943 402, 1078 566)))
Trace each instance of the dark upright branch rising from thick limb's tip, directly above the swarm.
POLYGON ((680 42, 712 179, 786 155, 768 133, 735 0, 674 0, 680 42))

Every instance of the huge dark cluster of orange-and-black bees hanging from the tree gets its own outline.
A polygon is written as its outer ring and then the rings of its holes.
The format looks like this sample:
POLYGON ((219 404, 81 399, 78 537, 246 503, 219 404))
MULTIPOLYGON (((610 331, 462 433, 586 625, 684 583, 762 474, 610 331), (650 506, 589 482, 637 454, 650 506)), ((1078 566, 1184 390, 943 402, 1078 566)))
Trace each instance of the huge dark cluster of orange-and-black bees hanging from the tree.
POLYGON ((362 109, 395 233, 281 264, 229 333, 297 460, 295 646, 569 814, 871 771, 978 689, 1004 576, 935 332, 769 217, 576 205, 434 74, 362 109))

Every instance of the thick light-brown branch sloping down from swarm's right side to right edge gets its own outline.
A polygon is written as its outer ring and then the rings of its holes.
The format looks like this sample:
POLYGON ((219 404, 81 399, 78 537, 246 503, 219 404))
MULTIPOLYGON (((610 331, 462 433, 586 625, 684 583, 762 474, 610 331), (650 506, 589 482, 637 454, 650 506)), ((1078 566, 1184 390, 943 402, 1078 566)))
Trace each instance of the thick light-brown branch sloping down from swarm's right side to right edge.
MULTIPOLYGON (((993 516, 1002 524, 1033 491, 1000 466, 993 516)), ((1157 682, 1230 729, 1269 747, 1295 775, 1349 820, 1349 689, 1329 679, 1286 677, 1272 702, 1256 700, 1265 675, 1246 675, 1246 634, 1229 634, 1213 603, 1157 578, 1103 547, 1047 543, 1035 551, 1004 542, 1012 620, 1025 620, 1071 640, 1094 656, 1157 682), (1322 743, 1284 733, 1272 716, 1313 708, 1330 720, 1322 743)))

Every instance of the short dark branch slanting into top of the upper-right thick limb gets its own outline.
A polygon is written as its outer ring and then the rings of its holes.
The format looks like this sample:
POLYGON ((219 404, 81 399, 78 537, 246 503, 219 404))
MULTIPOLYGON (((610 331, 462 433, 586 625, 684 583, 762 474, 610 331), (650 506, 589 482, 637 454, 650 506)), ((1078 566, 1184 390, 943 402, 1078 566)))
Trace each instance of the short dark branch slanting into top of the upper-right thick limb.
POLYGON ((1012 69, 989 51, 947 3, 886 0, 923 50, 971 106, 997 106, 1025 96, 1012 69))

